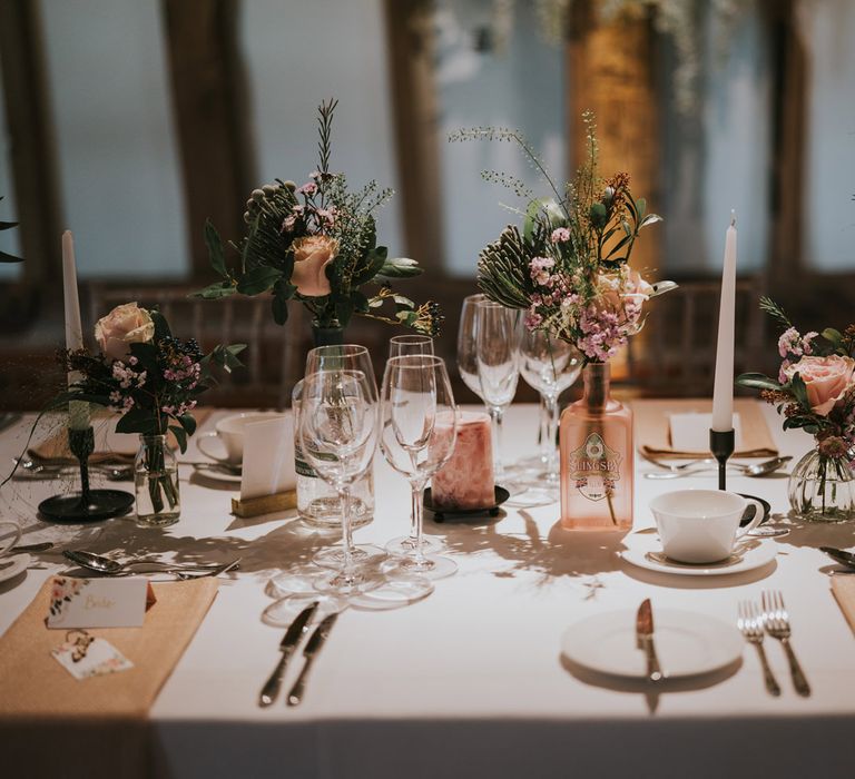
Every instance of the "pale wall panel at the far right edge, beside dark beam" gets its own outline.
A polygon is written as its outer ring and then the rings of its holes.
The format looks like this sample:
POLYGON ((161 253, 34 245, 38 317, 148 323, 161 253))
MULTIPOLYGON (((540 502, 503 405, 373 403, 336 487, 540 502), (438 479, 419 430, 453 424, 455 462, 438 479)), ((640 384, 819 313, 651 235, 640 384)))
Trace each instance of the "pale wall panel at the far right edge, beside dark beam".
POLYGON ((809 57, 805 259, 855 269, 855 3, 803 0, 809 57))

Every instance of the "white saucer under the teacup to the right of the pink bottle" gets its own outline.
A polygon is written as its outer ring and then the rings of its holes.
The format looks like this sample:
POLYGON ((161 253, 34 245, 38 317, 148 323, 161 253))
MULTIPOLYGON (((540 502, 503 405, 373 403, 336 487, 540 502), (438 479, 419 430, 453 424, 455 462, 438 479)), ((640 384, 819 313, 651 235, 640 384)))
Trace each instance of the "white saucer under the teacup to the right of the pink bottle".
POLYGON ((678 576, 725 576, 734 573, 745 573, 763 568, 775 559, 778 553, 774 541, 760 539, 744 539, 735 546, 735 554, 730 560, 706 565, 691 565, 668 560, 662 554, 662 544, 656 533, 630 533, 623 539, 626 549, 618 554, 632 565, 657 571, 658 573, 672 573, 678 576), (656 556, 652 556, 656 555, 656 556))

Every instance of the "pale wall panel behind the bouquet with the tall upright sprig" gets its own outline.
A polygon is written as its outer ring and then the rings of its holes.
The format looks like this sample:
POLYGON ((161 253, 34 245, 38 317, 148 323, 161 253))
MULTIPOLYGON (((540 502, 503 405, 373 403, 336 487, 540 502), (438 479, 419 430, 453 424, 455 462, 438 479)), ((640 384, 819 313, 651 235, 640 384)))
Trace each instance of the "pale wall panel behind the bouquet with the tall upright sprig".
MULTIPOLYGON (((317 167, 316 108, 338 98, 331 168, 353 189, 397 188, 381 0, 246 0, 240 38, 249 71, 259 181, 317 167)), ((375 214, 377 243, 403 253, 401 197, 375 214)))

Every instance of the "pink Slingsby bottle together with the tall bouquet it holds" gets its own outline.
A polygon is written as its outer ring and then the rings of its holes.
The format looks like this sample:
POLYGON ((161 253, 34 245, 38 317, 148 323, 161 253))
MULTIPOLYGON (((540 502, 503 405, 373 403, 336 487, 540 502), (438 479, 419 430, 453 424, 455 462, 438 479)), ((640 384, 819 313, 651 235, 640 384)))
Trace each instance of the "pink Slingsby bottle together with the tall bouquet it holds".
POLYGON ((522 233, 512 225, 479 257, 479 286, 492 300, 525 312, 524 324, 572 344, 584 367, 584 395, 560 424, 561 524, 566 529, 632 525, 632 413, 610 395, 609 361, 641 329, 642 307, 676 285, 647 283, 630 268, 635 240, 660 221, 636 200, 629 176, 601 179, 593 117, 583 116, 588 158, 573 183, 556 186, 524 138, 500 129, 461 130, 452 140, 488 138, 518 144, 552 197, 534 199, 519 179, 484 178, 525 198, 522 233))

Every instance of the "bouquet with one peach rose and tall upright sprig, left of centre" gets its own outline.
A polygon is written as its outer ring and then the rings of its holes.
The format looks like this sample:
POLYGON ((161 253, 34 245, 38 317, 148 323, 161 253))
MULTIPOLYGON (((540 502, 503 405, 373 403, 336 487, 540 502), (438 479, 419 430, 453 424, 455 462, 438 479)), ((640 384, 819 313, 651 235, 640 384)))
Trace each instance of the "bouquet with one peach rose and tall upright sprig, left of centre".
POLYGON ((318 167, 308 180, 276 179, 254 189, 246 203, 247 234, 232 244, 238 263, 227 267, 219 234, 208 223, 205 237, 222 280, 196 293, 222 298, 235 293, 272 293, 273 317, 285 324, 289 300, 302 303, 316 328, 346 327, 353 314, 435 335, 442 321, 434 303, 416 305, 389 282, 419 275, 413 259, 389 258, 376 244, 374 211, 392 197, 371 181, 352 193, 343 174, 331 172, 331 136, 337 101, 318 107, 318 167), (366 285, 375 285, 367 295, 366 285), (392 316, 382 313, 394 306, 392 316))

